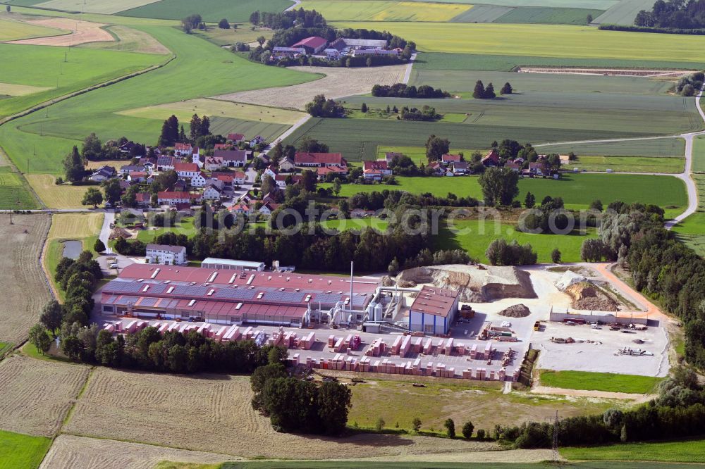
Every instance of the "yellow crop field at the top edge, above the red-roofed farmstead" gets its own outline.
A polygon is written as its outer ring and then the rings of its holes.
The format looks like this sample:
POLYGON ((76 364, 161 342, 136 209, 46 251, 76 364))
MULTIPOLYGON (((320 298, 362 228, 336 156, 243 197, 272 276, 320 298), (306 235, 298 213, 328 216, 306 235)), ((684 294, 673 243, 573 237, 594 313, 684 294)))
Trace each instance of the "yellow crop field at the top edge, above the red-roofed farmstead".
POLYGON ((472 6, 409 1, 304 0, 297 8, 318 11, 329 21, 446 22, 469 11, 472 6))

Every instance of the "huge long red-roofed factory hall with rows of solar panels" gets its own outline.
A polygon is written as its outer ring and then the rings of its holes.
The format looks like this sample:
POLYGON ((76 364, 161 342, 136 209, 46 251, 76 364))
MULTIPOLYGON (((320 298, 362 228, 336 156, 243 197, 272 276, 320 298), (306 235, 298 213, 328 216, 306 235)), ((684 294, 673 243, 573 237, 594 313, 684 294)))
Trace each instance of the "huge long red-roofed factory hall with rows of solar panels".
POLYGON ((305 326, 346 323, 379 280, 133 264, 100 293, 103 315, 305 326), (352 290, 352 295, 350 294, 352 290))

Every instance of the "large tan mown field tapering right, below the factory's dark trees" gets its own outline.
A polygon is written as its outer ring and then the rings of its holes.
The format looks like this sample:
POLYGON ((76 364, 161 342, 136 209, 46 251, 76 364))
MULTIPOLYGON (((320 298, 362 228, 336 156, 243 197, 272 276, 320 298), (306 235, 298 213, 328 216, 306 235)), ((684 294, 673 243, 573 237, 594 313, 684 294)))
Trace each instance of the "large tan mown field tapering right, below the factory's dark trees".
POLYGON ((252 410, 251 398, 245 376, 157 375, 97 368, 64 430, 267 458, 326 459, 341 454, 360 458, 497 448, 494 443, 432 437, 357 434, 334 439, 277 433, 269 419, 252 410))

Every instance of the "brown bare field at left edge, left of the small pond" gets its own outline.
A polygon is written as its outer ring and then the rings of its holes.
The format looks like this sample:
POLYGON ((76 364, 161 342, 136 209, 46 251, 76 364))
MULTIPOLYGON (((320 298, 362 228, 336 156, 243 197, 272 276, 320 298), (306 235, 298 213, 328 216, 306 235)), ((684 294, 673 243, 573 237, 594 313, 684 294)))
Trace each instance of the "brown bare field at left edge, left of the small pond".
MULTIPOLYGON (((49 215, 0 215, 0 342, 18 344, 37 322, 49 300, 49 286, 39 265, 39 253, 49 232, 49 215), (27 294, 31 292, 31 294, 27 294)), ((1 395, 1 394, 0 394, 1 395)), ((0 413, 2 415, 2 413, 0 413)))

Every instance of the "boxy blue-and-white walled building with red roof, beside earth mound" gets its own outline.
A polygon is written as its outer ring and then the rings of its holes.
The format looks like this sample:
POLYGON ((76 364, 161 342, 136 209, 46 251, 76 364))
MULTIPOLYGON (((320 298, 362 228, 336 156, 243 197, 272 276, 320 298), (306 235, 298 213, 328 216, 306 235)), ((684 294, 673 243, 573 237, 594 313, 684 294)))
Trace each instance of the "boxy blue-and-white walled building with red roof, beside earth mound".
POLYGON ((458 292, 424 285, 411 304, 409 330, 446 335, 458 313, 458 292))

